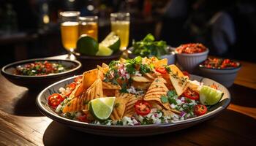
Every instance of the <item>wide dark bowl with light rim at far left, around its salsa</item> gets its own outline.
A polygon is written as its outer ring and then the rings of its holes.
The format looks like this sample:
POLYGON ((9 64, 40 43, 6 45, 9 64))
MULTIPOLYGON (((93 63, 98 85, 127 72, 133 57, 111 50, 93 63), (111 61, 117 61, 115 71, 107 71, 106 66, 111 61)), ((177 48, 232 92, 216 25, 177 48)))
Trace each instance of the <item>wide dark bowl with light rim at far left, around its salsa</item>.
POLYGON ((24 61, 17 61, 12 64, 7 64, 1 69, 1 74, 3 74, 4 77, 7 78, 7 80, 14 83, 15 85, 24 86, 27 88, 45 88, 47 85, 50 85, 53 82, 57 82, 67 77, 72 77, 78 72, 80 68, 81 68, 81 64, 79 61, 36 58, 36 59, 29 59, 24 61), (49 61, 52 63, 63 64, 64 66, 69 68, 69 70, 67 70, 66 72, 61 72, 57 74, 48 74, 43 76, 28 76, 28 75, 13 74, 15 72, 16 66, 33 63, 35 61, 49 61))

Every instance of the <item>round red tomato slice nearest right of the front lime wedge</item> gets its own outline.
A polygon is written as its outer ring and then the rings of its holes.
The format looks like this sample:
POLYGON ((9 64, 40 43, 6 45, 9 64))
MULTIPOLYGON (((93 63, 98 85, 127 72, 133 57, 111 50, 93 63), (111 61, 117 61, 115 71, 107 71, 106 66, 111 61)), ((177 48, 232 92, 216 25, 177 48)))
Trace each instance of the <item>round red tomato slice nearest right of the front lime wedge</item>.
POLYGON ((147 101, 138 100, 135 103, 135 111, 138 115, 148 115, 148 113, 151 111, 151 104, 149 104, 147 101))

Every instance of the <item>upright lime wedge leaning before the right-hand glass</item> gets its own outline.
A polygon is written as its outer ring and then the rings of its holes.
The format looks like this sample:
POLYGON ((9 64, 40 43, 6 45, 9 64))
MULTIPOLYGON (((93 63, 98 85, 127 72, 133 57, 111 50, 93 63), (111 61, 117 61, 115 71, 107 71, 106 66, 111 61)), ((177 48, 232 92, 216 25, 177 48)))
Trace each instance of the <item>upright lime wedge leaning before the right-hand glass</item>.
POLYGON ((120 47, 120 38, 113 31, 99 43, 102 46, 109 47, 113 52, 117 52, 120 47))

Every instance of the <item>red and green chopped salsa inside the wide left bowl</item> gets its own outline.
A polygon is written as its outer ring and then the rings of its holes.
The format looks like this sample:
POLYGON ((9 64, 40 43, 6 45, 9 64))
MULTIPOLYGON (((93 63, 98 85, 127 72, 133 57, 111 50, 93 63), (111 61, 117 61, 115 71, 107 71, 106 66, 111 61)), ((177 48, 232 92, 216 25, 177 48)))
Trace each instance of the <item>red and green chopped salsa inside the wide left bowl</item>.
POLYGON ((67 71, 67 68, 62 64, 50 63, 48 61, 35 61, 34 63, 16 66, 15 74, 39 76, 46 74, 56 74, 65 71, 67 71))

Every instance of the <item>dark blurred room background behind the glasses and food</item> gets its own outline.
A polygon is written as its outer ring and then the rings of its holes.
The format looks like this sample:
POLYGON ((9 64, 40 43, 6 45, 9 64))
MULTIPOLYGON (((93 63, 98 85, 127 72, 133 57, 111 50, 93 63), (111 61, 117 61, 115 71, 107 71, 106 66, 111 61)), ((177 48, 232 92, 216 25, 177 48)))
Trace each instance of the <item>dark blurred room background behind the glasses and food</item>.
POLYGON ((59 27, 67 10, 97 15, 99 42, 110 32, 110 13, 129 12, 129 46, 151 33, 172 47, 201 42, 210 55, 256 62, 252 0, 0 0, 0 67, 67 53, 59 27))

